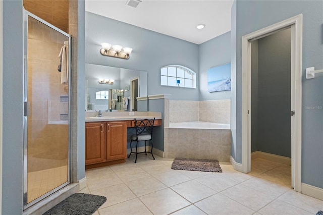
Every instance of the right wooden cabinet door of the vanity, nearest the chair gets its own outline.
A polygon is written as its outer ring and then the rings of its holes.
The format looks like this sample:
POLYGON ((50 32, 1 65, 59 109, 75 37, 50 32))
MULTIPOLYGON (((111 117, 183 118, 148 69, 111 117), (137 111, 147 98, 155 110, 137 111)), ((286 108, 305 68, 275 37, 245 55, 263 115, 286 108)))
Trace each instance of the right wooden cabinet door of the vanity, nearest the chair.
POLYGON ((107 160, 127 157, 127 123, 106 123, 107 160))

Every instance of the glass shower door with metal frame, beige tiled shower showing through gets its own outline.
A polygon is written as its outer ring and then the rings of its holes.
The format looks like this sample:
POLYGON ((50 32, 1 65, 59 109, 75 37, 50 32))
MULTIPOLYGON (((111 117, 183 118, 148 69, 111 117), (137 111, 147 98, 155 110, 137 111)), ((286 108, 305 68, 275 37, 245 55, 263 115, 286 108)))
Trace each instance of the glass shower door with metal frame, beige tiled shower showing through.
POLYGON ((25 11, 24 209, 70 183, 69 34, 25 11))

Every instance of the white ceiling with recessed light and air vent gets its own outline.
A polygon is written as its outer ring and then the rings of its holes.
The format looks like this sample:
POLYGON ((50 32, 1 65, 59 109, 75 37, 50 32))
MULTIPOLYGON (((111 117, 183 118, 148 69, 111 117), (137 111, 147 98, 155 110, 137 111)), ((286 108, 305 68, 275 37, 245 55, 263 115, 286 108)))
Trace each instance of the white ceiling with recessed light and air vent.
POLYGON ((85 10, 196 44, 231 30, 233 0, 142 0, 137 8, 127 0, 86 0, 85 10), (205 28, 196 29, 197 24, 205 28))

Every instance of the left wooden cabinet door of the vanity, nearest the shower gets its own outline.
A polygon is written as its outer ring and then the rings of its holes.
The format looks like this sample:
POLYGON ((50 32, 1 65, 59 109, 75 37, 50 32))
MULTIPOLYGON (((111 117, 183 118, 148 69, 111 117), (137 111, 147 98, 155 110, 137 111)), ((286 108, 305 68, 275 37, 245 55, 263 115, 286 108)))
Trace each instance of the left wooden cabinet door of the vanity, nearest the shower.
POLYGON ((85 165, 106 160, 104 123, 85 123, 85 165))

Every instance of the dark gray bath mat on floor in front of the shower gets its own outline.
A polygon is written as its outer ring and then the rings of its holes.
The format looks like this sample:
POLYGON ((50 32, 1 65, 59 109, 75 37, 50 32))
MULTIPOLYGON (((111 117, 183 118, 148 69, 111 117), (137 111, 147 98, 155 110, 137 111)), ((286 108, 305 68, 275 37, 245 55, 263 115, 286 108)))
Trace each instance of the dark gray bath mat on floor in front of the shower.
POLYGON ((83 215, 94 213, 104 202, 106 197, 75 193, 62 202, 50 208, 43 215, 83 215))

